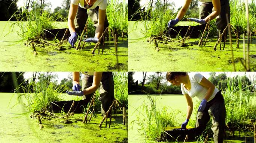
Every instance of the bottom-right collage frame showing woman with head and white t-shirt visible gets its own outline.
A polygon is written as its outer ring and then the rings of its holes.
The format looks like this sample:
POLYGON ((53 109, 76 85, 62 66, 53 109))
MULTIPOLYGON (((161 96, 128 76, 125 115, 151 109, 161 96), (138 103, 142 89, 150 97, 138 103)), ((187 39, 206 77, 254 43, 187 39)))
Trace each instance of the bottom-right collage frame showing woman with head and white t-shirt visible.
POLYGON ((256 72, 129 72, 128 142, 255 142, 256 72))

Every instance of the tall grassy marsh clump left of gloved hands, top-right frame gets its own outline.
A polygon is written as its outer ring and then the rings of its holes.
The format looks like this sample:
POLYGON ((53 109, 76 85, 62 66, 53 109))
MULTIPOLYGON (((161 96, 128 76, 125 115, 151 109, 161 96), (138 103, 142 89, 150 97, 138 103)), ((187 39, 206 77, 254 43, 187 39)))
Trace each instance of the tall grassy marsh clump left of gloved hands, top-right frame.
MULTIPOLYGON (((144 25, 144 31, 141 31, 146 37, 150 36, 162 36, 167 31, 167 24, 170 19, 174 19, 176 15, 168 9, 167 4, 163 4, 162 0, 154 1, 154 5, 149 3, 145 4, 147 10, 142 11, 138 9, 133 16, 140 15, 141 19, 137 22, 141 22, 144 25)), ((136 25, 135 23, 135 25, 136 25)))

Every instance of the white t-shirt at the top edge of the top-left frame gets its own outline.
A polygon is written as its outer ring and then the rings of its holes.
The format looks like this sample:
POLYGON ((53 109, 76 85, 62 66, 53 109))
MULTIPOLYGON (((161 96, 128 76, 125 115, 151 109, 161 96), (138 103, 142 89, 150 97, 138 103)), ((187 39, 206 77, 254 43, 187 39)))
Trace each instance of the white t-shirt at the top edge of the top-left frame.
MULTIPOLYGON (((78 5, 85 9, 85 4, 84 3, 84 0, 71 0, 71 4, 74 4, 74 5, 78 5)), ((107 9, 107 0, 97 0, 95 1, 95 3, 92 5, 92 7, 90 7, 89 9, 95 9, 97 6, 99 6, 99 9, 101 10, 105 10, 107 9)))

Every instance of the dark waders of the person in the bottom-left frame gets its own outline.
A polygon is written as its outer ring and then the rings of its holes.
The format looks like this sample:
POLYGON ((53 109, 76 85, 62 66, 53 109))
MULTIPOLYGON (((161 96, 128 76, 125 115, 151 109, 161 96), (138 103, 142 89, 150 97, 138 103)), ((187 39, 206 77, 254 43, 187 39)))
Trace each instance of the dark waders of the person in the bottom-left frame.
MULTIPOLYGON (((89 88, 92 85, 93 76, 84 74, 82 82, 82 89, 89 88)), ((100 97, 98 99, 101 102, 101 114, 104 115, 114 100, 114 80, 112 72, 102 73, 98 91, 100 92, 100 97)), ((90 95, 86 95, 86 98, 85 96, 83 96, 83 99, 85 100, 86 104, 90 102, 92 95, 93 93, 90 95)))

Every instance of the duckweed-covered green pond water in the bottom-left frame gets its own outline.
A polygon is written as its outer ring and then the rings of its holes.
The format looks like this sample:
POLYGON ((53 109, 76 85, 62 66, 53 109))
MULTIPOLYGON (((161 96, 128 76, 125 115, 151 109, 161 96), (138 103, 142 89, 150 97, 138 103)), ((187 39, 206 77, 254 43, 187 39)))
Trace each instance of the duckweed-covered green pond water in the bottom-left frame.
POLYGON ((16 96, 18 94, 0 93, 0 143, 125 143, 128 140, 128 127, 122 125, 122 113, 113 114, 110 128, 105 128, 105 122, 102 128, 98 127, 102 119, 98 113, 98 118, 92 118, 87 124, 82 123, 83 114, 74 114, 71 124, 43 119, 40 129, 37 120, 30 118, 31 114, 18 115, 27 112, 22 104, 10 109, 16 103, 16 96))

